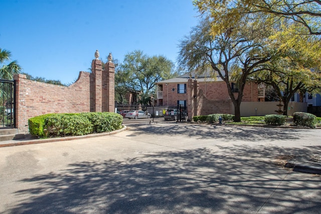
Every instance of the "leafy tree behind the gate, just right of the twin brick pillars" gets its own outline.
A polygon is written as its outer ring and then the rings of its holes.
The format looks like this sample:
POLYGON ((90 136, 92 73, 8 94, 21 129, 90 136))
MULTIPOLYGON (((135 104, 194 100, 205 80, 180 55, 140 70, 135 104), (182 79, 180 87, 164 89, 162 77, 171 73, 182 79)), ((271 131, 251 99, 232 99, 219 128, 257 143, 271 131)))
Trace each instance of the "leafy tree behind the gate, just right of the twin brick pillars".
POLYGON ((135 50, 125 55, 115 74, 115 84, 125 90, 139 93, 139 102, 146 104, 155 93, 155 83, 175 75, 174 63, 164 56, 145 55, 135 50))

